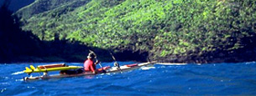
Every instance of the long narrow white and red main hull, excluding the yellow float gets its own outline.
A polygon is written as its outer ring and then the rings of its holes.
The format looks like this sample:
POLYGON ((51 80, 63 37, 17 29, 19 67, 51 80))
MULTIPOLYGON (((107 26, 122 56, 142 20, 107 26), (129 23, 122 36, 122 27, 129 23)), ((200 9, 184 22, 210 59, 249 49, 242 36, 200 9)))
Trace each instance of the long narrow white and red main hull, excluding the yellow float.
POLYGON ((152 66, 154 63, 133 63, 133 64, 126 64, 120 67, 117 66, 107 66, 107 67, 102 67, 98 68, 97 72, 98 73, 91 73, 91 72, 84 72, 84 73, 77 73, 77 74, 52 74, 52 75, 42 75, 42 76, 36 76, 36 77, 24 77, 24 81, 28 80, 37 80, 37 79, 49 79, 49 78, 68 78, 68 77, 79 77, 79 76, 89 76, 89 75, 96 75, 96 74, 101 74, 101 73, 123 73, 129 70, 133 70, 136 68, 141 68, 144 66, 152 66))

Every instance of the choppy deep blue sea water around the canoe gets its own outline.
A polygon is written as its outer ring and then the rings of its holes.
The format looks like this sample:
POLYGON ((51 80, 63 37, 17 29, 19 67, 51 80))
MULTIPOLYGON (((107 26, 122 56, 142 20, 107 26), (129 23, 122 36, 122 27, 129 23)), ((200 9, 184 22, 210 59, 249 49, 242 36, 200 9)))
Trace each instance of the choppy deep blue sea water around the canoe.
MULTIPOLYGON (((120 62, 121 65, 133 62, 120 62)), ((162 65, 123 73, 24 81, 25 67, 1 63, 0 95, 256 95, 256 62, 162 65)), ((66 63, 81 65, 82 63, 66 63)), ((102 66, 112 63, 102 63, 102 66)), ((99 68, 99 66, 97 66, 99 68)), ((39 75, 33 73, 32 75, 39 75)))

